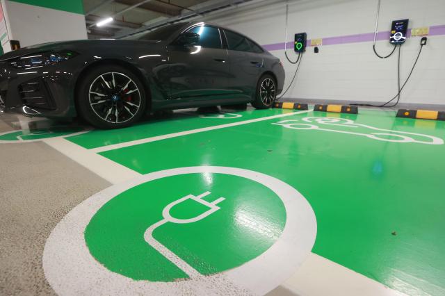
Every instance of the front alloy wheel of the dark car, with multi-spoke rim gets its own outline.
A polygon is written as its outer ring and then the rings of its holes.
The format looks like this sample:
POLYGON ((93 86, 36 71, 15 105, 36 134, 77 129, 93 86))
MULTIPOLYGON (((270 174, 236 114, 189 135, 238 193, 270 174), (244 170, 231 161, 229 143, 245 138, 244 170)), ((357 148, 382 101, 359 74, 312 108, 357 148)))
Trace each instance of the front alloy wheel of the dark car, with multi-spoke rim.
POLYGON ((138 113, 140 91, 129 76, 119 72, 100 74, 88 90, 90 107, 106 122, 121 124, 138 113))

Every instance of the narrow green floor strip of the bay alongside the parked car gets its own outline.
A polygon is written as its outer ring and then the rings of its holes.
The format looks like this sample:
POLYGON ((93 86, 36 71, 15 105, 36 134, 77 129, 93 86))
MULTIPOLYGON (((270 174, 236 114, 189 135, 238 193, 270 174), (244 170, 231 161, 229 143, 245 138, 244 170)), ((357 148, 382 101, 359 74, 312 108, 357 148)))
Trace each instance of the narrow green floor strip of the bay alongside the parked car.
MULTIPOLYGON (((278 111, 275 111, 278 112, 278 111)), ((68 137, 67 140, 74 142, 87 149, 103 147, 107 145, 119 144, 133 140, 140 140, 157 135, 168 133, 178 133, 191 129, 201 129, 218 124, 227 124, 229 122, 240 122, 254 118, 264 117, 270 114, 268 110, 246 110, 234 113, 209 113, 198 114, 195 111, 174 113, 171 116, 163 117, 157 120, 148 120, 141 122, 126 129, 115 130, 96 130, 90 131, 88 135, 80 137, 68 137)))

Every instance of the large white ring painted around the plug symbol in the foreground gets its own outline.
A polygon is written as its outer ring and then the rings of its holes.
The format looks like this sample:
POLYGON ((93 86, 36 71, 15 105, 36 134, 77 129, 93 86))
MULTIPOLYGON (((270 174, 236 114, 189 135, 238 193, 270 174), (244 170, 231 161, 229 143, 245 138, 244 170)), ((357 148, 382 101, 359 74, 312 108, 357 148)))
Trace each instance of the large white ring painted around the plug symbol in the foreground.
POLYGON ((316 217, 309 202, 289 184, 236 167, 179 167, 152 172, 120 183, 84 200, 53 229, 44 246, 45 277, 59 295, 263 295, 288 279, 305 261, 316 238, 316 217), (120 193, 156 179, 194 173, 241 176, 267 186, 282 199, 286 224, 282 235, 263 254, 237 268, 176 282, 135 281, 98 263, 86 246, 83 231, 106 202, 120 193))

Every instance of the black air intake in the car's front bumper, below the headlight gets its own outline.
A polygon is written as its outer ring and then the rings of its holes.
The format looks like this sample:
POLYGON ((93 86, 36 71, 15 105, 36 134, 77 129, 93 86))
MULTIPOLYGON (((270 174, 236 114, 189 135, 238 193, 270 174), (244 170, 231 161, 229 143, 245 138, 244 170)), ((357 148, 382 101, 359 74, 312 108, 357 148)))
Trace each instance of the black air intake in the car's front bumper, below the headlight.
POLYGON ((33 79, 19 85, 19 94, 25 106, 54 110, 56 104, 52 99, 47 84, 42 79, 33 79))

